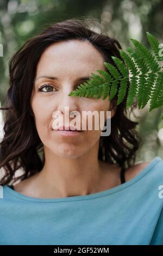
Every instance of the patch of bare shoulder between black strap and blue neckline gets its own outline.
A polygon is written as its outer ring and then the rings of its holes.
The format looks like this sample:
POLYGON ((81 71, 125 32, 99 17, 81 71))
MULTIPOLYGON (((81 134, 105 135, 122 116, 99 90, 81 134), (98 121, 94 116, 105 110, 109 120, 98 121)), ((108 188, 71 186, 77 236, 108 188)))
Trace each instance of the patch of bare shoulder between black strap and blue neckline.
POLYGON ((134 166, 129 167, 126 169, 125 178, 126 181, 133 179, 139 173, 141 173, 149 164, 150 162, 140 162, 136 163, 134 166))

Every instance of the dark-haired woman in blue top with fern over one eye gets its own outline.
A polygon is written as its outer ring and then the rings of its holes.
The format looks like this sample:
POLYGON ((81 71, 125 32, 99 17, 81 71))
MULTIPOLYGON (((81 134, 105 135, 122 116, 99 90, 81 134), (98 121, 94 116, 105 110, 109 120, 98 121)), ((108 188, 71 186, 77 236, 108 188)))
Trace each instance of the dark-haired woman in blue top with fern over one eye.
POLYGON ((70 19, 54 23, 10 59, 0 244, 163 245, 163 160, 135 164, 141 139, 137 122, 127 117, 126 98, 116 106, 116 97, 68 96, 105 70, 103 62, 114 65, 118 48, 116 39, 70 19), (53 113, 64 117, 65 107, 79 114, 104 111, 105 123, 110 111, 110 135, 57 131, 53 113))

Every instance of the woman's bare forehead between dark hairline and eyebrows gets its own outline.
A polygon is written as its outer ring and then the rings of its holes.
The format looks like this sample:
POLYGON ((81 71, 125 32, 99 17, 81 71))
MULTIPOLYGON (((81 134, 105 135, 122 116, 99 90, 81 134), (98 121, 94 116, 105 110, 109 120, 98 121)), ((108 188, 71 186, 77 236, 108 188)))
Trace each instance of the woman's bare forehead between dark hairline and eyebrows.
POLYGON ((104 70, 103 62, 101 53, 88 42, 57 42, 42 53, 37 71, 40 73, 48 70, 59 76, 64 70, 64 74, 72 72, 73 76, 90 76, 98 69, 104 70))

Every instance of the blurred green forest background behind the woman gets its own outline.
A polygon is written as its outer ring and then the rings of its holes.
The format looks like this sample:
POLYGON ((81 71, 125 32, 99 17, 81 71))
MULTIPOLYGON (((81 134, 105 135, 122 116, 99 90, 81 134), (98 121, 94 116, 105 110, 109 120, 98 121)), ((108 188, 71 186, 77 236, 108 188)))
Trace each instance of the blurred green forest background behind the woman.
MULTIPOLYGON (((26 40, 40 33, 49 23, 91 16, 97 19, 110 36, 125 49, 130 38, 149 47, 146 31, 163 43, 163 0, 0 0, 0 102, 9 88, 8 61, 26 40)), ((162 85, 163 86, 163 85, 162 85)), ((143 144, 137 151, 136 162, 163 158, 163 109, 148 111, 149 106, 137 109, 138 130, 143 144)), ((136 113, 136 114, 137 114, 136 113)), ((2 113, 0 112, 0 119, 2 113)), ((1 122, 0 131, 3 127, 1 122)))

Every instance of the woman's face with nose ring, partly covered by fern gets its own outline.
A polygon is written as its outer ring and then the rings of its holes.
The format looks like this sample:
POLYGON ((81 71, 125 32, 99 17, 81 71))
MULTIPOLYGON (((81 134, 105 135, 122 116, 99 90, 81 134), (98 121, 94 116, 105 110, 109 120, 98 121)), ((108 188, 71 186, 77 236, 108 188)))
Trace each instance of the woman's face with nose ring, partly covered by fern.
MULTIPOLYGON (((92 118, 92 130, 88 128, 88 116, 82 117, 83 111, 93 113, 101 111, 105 114, 109 111, 110 101, 68 96, 72 90, 86 82, 91 73, 99 75, 98 69, 105 70, 104 59, 101 53, 88 41, 70 40, 68 42, 57 42, 46 48, 37 64, 36 79, 31 97, 31 106, 34 113, 35 125, 39 137, 48 150, 60 157, 76 158, 86 154, 93 147, 97 147, 102 129, 95 130, 95 120, 92 118), (48 77, 48 78, 47 78, 48 77), (54 78, 55 77, 55 78, 54 78), (38 89, 42 86, 41 91, 38 89), (76 136, 64 136, 53 130, 54 113, 58 111, 63 118, 62 125, 67 125, 64 120, 65 107, 69 113, 78 109, 80 115, 80 129, 85 123, 86 130, 76 133, 76 136)), ((111 111, 111 117, 114 115, 111 111)), ((71 121, 76 118, 69 118, 71 121)), ((61 119, 60 119, 61 120, 61 119)), ((99 120, 98 120, 99 123, 99 120)), ((103 123, 104 125, 104 123, 103 123)), ((74 126, 77 126, 74 123, 74 126)))

